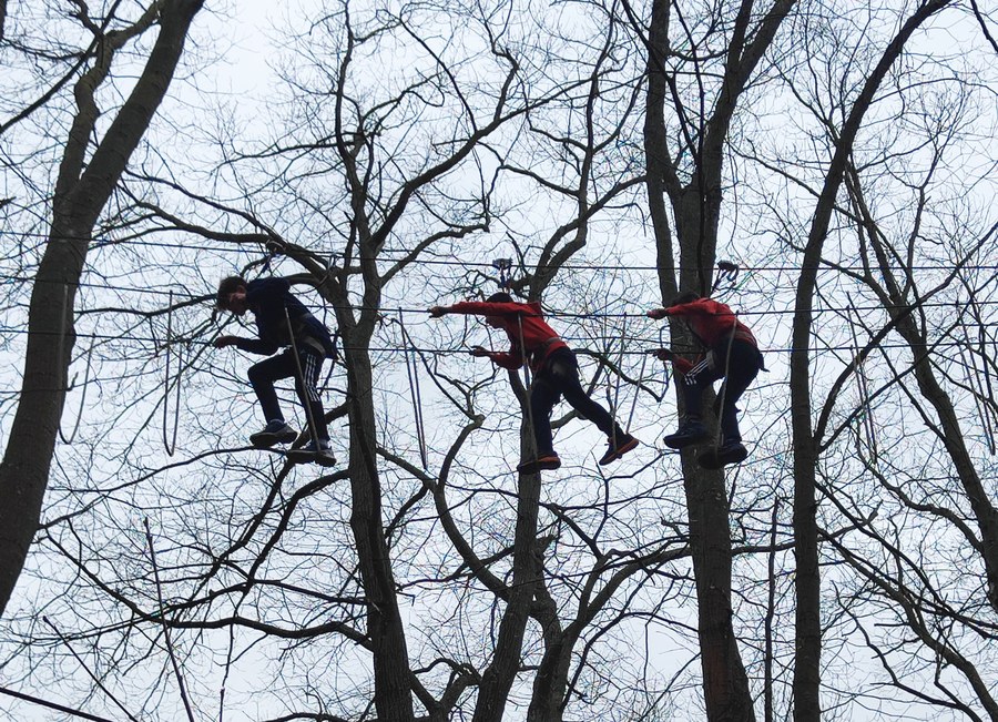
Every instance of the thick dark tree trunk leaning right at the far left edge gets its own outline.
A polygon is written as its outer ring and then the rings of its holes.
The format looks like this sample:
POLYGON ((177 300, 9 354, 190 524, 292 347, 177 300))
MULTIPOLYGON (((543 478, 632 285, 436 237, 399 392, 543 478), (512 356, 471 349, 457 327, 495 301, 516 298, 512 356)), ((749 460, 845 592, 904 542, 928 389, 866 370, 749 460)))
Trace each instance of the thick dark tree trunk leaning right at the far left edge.
POLYGON ((160 33, 145 69, 85 171, 86 144, 98 116, 93 91, 106 77, 113 53, 108 51, 101 58, 106 64, 95 67, 77 87, 79 112, 60 165, 52 230, 28 309, 28 350, 18 410, 0 462, 0 616, 41 518, 75 340, 73 301, 93 225, 166 94, 202 1, 162 3, 160 33))

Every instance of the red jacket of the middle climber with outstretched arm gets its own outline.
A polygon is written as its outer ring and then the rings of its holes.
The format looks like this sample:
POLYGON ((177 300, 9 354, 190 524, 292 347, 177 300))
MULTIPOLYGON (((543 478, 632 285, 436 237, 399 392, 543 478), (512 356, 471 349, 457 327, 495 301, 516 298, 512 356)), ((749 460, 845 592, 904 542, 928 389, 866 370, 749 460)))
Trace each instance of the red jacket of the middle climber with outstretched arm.
POLYGON ((538 302, 489 303, 487 301, 462 301, 447 307, 447 313, 495 316, 502 323, 502 331, 509 336, 509 353, 493 352, 489 358, 502 368, 519 368, 527 360, 531 370, 537 372, 548 355, 557 348, 568 348, 554 329, 543 322, 543 311, 538 302), (523 337, 526 354, 520 347, 523 337), (526 356, 526 358, 525 358, 526 356))

